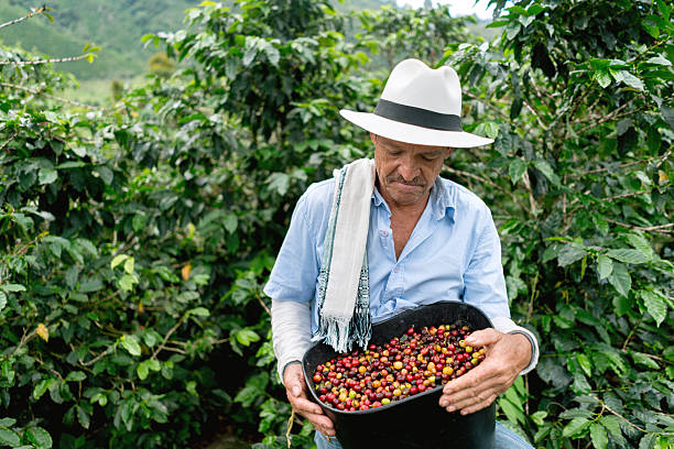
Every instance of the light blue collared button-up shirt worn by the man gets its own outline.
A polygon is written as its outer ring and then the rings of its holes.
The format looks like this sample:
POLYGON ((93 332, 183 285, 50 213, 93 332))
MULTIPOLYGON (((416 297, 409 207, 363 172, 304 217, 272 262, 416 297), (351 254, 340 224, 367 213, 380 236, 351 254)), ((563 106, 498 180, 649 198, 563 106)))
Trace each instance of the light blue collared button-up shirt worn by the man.
MULTIPOLYGON (((276 300, 312 302, 312 332, 323 241, 335 179, 309 186, 297 201, 264 293, 276 300)), ((374 189, 368 231, 372 322, 438 300, 463 300, 488 317, 510 317, 501 244, 491 212, 465 187, 438 177, 400 258, 391 210, 374 189)))

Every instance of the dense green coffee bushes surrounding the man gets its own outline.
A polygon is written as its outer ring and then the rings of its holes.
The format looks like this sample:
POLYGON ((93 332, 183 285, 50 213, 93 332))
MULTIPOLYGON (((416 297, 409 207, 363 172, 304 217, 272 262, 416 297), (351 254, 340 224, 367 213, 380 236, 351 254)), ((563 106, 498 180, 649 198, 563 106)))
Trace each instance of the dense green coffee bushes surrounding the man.
POLYGON ((371 110, 421 55, 497 139, 445 175, 490 205, 541 342, 500 418, 536 447, 672 447, 671 7, 492 3, 486 43, 442 9, 204 2, 143 37, 175 72, 105 110, 2 48, 0 445, 186 447, 225 424, 285 447, 261 287, 301 193, 371 151, 338 108, 371 110))

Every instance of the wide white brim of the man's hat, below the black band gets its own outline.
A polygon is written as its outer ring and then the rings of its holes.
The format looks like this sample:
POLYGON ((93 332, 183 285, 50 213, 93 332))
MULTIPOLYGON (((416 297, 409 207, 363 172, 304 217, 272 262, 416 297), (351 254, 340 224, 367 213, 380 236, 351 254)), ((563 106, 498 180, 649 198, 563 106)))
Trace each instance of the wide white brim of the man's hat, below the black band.
POLYGON ((356 112, 349 111, 348 109, 341 109, 339 113, 341 117, 366 131, 382 135, 387 139, 415 145, 469 149, 493 143, 493 139, 481 138, 469 132, 433 130, 387 119, 371 112, 356 112))

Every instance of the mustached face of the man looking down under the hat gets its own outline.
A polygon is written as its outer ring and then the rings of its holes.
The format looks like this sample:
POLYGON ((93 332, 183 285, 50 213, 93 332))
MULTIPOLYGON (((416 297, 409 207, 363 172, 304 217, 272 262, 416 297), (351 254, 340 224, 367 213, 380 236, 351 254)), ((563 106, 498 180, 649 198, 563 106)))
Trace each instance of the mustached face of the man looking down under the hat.
POLYGON ((370 133, 379 191, 389 206, 425 205, 433 183, 439 175, 447 146, 414 145, 370 133), (393 204, 392 204, 393 202, 393 204))

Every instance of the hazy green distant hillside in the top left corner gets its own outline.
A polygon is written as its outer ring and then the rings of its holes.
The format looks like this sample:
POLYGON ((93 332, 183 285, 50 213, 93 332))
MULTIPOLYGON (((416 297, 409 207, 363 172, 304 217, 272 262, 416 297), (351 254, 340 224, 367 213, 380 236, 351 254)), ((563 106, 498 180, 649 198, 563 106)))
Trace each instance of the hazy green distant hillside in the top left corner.
MULTIPOLYGON (((54 23, 37 17, 0 30, 4 45, 20 44, 25 50, 52 57, 81 54, 89 42, 102 50, 94 64, 78 62, 63 66, 79 79, 126 77, 145 70, 154 48, 143 48, 143 34, 178 30, 184 26, 185 10, 199 0, 54 0, 54 23)), ((24 15, 34 0, 0 2, 0 21, 24 15)))

